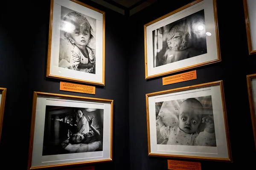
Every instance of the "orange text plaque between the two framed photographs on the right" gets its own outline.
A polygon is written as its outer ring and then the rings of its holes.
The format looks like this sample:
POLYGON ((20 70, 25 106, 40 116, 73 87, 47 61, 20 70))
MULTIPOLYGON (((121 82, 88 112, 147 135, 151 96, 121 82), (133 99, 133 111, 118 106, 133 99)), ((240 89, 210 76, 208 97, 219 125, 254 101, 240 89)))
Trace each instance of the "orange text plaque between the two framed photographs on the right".
POLYGON ((176 74, 169 77, 163 77, 163 85, 169 85, 176 82, 184 82, 192 79, 196 79, 196 70, 189 71, 182 74, 176 74))

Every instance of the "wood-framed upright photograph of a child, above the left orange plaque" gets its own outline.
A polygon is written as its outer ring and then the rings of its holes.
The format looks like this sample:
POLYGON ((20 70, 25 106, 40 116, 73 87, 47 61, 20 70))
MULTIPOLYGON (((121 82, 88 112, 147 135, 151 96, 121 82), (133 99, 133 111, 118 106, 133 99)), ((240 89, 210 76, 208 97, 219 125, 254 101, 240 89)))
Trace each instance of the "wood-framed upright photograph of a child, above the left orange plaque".
POLYGON ((105 85, 105 12, 51 0, 47 77, 105 85))

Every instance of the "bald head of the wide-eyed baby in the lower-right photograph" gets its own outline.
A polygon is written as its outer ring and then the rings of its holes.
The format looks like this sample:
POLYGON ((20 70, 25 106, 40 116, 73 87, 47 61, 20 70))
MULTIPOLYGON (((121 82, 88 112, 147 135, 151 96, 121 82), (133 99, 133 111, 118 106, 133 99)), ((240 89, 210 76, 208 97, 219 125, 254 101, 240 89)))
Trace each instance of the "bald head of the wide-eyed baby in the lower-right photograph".
POLYGON ((202 119, 202 104, 195 98, 184 100, 179 109, 179 127, 185 133, 195 133, 202 119))

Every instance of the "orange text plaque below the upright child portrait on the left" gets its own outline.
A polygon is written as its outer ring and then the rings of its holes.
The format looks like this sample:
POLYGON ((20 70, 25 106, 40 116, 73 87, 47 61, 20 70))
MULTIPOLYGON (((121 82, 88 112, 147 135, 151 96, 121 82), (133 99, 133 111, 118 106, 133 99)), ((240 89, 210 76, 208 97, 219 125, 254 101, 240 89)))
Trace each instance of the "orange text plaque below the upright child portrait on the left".
POLYGON ((95 94, 95 86, 79 85, 79 84, 70 83, 70 82, 60 82, 60 90, 95 94))

